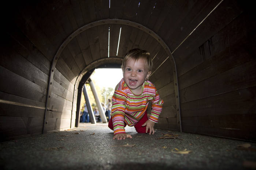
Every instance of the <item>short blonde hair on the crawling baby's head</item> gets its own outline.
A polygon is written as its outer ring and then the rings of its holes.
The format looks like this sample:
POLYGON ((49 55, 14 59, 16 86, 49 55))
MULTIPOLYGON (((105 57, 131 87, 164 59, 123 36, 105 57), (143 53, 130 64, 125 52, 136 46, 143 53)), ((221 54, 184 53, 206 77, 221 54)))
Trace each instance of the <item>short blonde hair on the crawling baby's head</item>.
POLYGON ((153 62, 150 57, 150 53, 146 50, 141 50, 141 49, 132 49, 128 51, 128 53, 125 55, 125 58, 123 59, 123 63, 121 66, 122 70, 125 68, 125 63, 127 60, 131 59, 134 61, 138 61, 138 59, 140 58, 146 60, 146 69, 148 69, 148 71, 151 72, 153 68, 153 62))

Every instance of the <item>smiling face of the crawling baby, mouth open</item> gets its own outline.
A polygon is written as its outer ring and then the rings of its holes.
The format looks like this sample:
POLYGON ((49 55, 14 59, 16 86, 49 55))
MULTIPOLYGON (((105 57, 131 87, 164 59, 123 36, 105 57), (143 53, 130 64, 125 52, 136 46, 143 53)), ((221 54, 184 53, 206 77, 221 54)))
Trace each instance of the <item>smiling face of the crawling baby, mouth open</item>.
POLYGON ((145 78, 149 78, 150 72, 146 68, 146 60, 127 60, 123 69, 123 79, 134 94, 141 94, 142 84, 145 78))

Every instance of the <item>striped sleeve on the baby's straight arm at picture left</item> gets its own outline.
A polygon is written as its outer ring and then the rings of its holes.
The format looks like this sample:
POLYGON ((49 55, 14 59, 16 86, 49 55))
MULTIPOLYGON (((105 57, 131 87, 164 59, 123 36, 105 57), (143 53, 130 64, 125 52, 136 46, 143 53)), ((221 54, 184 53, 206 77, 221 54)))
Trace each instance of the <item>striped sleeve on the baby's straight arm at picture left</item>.
POLYGON ((114 135, 125 133, 125 108, 126 93, 122 90, 115 90, 112 97, 111 117, 113 120, 114 135))

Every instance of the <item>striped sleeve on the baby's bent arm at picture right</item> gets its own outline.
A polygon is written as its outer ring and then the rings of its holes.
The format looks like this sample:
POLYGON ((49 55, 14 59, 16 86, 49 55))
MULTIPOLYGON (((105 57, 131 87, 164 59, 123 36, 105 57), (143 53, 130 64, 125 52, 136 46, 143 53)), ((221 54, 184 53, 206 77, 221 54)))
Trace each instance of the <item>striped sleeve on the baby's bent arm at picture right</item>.
POLYGON ((158 117, 162 112, 164 101, 160 98, 156 88, 155 88, 155 96, 152 100, 152 110, 151 115, 149 116, 149 120, 158 123, 158 117))

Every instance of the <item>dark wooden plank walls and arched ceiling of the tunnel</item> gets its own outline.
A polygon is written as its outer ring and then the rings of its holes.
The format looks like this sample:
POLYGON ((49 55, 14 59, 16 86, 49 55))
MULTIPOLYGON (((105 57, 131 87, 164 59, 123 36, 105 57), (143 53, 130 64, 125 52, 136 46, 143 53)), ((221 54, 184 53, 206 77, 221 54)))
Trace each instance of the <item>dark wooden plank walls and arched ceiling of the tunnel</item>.
POLYGON ((256 141, 252 4, 37 0, 1 7, 2 140, 75 127, 93 70, 120 67, 128 50, 141 48, 151 53, 150 81, 164 100, 157 128, 256 141))

